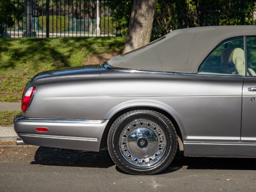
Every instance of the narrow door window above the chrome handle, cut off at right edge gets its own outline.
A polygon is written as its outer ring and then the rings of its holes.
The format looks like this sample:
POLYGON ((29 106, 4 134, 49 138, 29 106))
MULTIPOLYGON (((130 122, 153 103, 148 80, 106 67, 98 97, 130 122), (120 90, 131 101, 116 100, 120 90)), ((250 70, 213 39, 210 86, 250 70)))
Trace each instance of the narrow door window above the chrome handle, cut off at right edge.
POLYGON ((256 37, 246 38, 246 76, 256 76, 256 37))

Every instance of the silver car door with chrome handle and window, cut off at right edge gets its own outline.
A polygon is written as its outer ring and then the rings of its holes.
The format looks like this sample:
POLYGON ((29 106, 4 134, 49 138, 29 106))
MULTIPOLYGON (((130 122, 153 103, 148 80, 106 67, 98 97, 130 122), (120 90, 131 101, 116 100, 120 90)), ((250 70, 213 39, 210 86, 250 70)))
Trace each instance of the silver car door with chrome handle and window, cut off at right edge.
POLYGON ((256 142, 256 37, 246 37, 246 70, 243 85, 241 141, 256 142))

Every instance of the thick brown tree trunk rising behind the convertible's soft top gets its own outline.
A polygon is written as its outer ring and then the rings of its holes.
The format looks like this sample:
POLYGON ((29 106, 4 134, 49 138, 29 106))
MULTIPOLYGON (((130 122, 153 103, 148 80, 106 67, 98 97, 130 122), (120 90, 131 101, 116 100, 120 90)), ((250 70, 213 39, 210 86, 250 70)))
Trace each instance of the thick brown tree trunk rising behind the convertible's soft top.
POLYGON ((134 0, 123 53, 150 41, 157 0, 134 0))

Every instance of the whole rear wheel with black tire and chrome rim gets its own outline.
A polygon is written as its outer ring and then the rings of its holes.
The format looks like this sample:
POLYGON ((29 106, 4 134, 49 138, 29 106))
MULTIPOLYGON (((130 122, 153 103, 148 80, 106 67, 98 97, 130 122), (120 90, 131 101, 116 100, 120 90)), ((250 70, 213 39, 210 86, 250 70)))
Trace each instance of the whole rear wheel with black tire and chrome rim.
POLYGON ((175 157, 175 127, 156 111, 129 111, 113 122, 108 132, 108 151, 116 166, 128 174, 157 174, 175 157))

